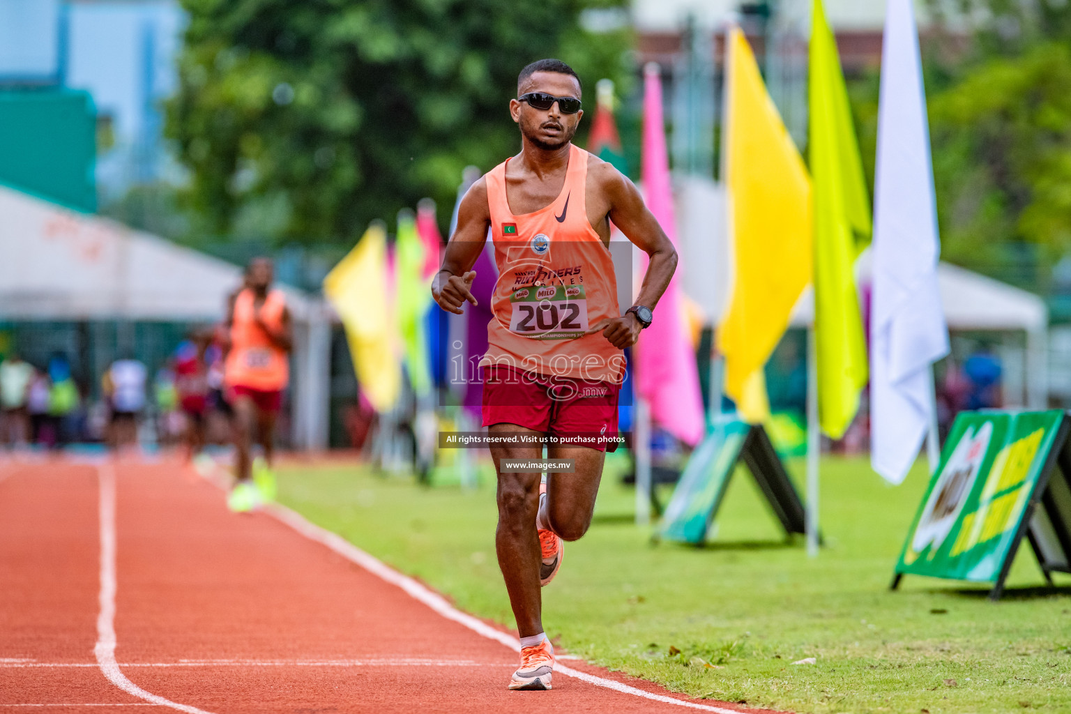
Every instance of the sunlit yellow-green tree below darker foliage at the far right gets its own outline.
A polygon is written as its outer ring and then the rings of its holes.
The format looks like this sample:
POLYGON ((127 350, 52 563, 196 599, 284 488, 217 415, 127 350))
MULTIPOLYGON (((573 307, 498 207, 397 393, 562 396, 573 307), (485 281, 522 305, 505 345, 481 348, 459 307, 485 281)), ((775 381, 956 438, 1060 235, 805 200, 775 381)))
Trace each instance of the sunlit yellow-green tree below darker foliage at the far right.
POLYGON ((1071 247, 1071 50, 1046 42, 967 73, 931 102, 946 241, 1071 247))

